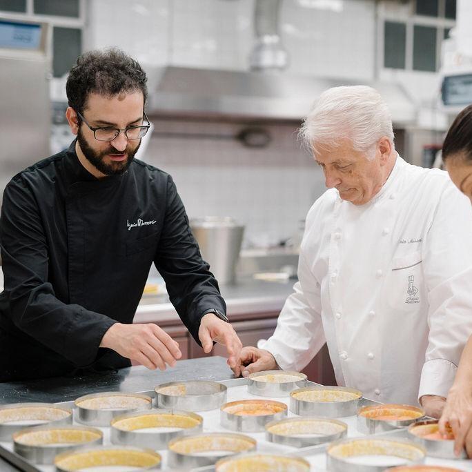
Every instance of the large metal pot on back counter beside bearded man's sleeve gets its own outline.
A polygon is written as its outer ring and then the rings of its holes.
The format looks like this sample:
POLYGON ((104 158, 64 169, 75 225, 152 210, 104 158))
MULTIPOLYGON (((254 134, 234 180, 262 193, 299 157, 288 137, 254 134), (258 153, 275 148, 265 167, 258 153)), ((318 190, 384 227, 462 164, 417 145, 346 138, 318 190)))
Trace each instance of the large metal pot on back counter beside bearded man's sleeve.
POLYGON ((231 217, 204 217, 192 219, 190 228, 219 284, 234 284, 244 226, 231 217))

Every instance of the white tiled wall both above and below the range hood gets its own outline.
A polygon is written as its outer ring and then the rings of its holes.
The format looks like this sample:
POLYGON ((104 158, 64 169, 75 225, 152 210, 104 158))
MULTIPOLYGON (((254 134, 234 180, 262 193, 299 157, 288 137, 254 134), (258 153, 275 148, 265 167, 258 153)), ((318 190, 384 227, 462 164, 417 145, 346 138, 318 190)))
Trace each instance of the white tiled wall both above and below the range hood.
MULTIPOLYGON (((119 46, 144 65, 248 69, 254 0, 93 0, 86 48, 119 46)), ((284 0, 280 12, 288 72, 373 77, 373 0, 284 0), (326 8, 327 6, 327 8, 326 8)), ((153 120, 155 121, 155 120, 153 120)), ((235 135, 237 124, 161 121, 163 132, 235 135)), ((244 245, 276 244, 324 191, 322 173, 297 144, 295 126, 273 125, 264 149, 235 140, 154 135, 145 160, 168 171, 190 217, 229 215, 246 224, 244 245)))

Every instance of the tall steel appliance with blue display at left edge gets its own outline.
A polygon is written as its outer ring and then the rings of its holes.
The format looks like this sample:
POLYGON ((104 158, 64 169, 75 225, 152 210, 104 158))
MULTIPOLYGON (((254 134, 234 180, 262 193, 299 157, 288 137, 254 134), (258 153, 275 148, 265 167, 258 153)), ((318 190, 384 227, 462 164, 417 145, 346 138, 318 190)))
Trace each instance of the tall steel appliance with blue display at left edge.
POLYGON ((8 181, 50 154, 50 25, 0 17, 0 201, 8 181))

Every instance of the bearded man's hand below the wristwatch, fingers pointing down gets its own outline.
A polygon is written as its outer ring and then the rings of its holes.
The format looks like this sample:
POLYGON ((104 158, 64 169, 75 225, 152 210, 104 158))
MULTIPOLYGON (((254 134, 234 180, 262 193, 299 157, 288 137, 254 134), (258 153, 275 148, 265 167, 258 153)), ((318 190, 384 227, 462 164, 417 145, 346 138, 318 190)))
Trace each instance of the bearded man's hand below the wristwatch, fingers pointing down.
POLYGON ((234 368, 239 359, 242 342, 236 334, 233 326, 219 319, 214 313, 206 313, 201 318, 198 337, 201 347, 207 354, 213 349, 213 341, 226 346, 228 351, 228 366, 234 368))

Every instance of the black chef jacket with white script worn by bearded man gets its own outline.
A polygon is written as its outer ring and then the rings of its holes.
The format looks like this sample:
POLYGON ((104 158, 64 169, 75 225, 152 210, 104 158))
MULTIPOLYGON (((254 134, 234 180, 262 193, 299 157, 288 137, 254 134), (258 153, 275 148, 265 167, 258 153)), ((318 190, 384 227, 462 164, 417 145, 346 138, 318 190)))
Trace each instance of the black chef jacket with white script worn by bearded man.
POLYGON ((75 141, 10 181, 0 247, 0 382, 129 366, 99 344, 132 323, 153 262, 197 342, 204 313, 226 311, 172 177, 134 159, 96 179, 75 141))

